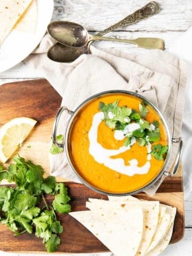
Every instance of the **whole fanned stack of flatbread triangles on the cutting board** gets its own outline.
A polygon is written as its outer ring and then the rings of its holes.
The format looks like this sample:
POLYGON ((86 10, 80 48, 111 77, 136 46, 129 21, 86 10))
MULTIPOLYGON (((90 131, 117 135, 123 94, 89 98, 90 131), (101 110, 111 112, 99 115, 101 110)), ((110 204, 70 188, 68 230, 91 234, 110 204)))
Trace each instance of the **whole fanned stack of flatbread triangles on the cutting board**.
POLYGON ((115 256, 156 256, 169 244, 176 208, 132 196, 90 198, 91 211, 69 213, 115 256))

